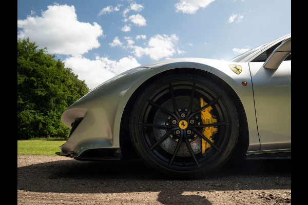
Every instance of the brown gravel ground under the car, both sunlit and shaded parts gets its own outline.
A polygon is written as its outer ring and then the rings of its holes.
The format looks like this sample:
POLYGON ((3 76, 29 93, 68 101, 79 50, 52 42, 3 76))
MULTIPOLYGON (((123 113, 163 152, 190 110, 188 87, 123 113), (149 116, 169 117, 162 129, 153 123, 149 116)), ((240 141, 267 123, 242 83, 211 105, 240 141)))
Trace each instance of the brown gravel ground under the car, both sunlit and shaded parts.
POLYGON ((291 160, 244 161, 173 180, 140 160, 17 155, 17 204, 291 204, 291 160))

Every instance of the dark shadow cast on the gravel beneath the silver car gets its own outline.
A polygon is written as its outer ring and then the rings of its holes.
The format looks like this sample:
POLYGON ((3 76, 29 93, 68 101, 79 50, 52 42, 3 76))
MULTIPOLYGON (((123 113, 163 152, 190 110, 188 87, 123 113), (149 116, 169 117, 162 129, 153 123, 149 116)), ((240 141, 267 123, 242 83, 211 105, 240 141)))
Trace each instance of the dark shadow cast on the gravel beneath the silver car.
POLYGON ((17 189, 51 193, 160 192, 158 200, 211 204, 198 195, 183 192, 230 190, 291 190, 291 159, 246 160, 228 163, 198 180, 166 178, 140 160, 124 162, 59 160, 17 168, 17 189), (187 201, 189 198, 189 201, 187 201))

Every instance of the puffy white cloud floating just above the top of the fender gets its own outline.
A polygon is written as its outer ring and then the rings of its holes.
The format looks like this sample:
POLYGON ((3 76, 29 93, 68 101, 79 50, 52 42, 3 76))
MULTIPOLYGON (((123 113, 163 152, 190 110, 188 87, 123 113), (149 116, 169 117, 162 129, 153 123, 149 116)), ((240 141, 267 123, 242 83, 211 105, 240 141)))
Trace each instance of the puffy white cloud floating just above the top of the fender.
MULTIPOLYGON (((176 34, 168 35, 155 35, 148 41, 145 48, 140 46, 131 46, 134 50, 132 53, 137 57, 148 55, 151 59, 158 60, 163 57, 170 57, 176 53, 176 44, 179 38, 176 34)), ((183 52, 178 50, 178 53, 183 52)))

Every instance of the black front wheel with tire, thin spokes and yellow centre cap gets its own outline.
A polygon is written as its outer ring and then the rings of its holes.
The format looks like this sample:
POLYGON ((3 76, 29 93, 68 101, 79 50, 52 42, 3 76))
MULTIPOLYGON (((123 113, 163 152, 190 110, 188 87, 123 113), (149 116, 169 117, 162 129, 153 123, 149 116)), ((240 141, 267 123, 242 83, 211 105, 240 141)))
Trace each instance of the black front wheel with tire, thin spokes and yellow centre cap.
POLYGON ((221 168, 235 148, 238 133, 238 115, 230 97, 212 81, 191 74, 161 77, 145 88, 130 118, 131 140, 139 157, 149 168, 176 178, 199 178, 221 168), (204 154, 200 146, 202 138, 206 140, 201 120, 205 108, 200 97, 217 119, 214 142, 204 154), (188 123, 191 119, 193 124, 188 123), (181 120, 185 120, 182 125, 181 120), (183 129, 185 122, 188 126, 183 129))

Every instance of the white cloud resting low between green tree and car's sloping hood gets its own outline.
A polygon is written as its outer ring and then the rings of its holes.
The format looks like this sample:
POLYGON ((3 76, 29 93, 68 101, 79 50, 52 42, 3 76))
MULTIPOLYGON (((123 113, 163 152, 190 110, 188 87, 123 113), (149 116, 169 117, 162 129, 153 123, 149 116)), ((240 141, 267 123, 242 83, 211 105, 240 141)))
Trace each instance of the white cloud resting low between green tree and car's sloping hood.
POLYGON ((79 55, 65 59, 64 63, 65 67, 71 68, 74 73, 78 73, 79 79, 85 80, 85 83, 91 89, 117 74, 140 66, 132 56, 123 57, 117 61, 99 56, 95 60, 90 60, 79 55))

